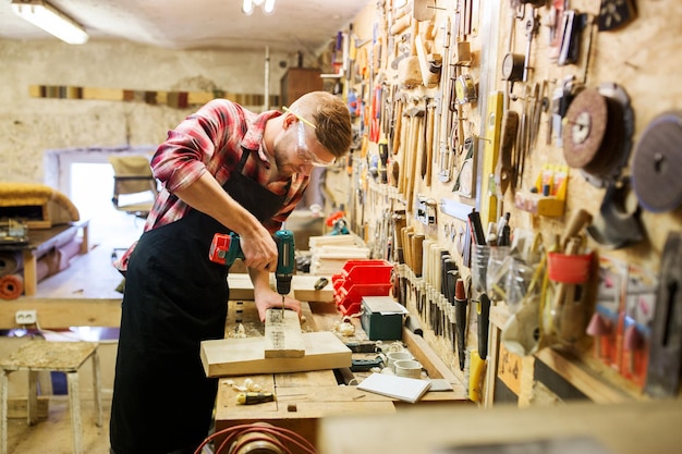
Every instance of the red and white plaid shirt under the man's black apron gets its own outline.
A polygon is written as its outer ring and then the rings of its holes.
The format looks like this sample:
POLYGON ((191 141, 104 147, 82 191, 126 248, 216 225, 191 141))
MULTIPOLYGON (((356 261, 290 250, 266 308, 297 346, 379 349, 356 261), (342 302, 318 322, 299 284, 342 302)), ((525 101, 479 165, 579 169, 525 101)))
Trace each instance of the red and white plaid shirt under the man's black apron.
MULTIPOLYGON (((307 175, 294 174, 267 183, 268 160, 261 146, 263 133, 266 122, 280 114, 278 111, 256 114, 227 99, 214 99, 169 131, 168 138, 151 159, 154 176, 162 183, 163 188, 147 217, 144 231, 182 219, 192 208, 173 193, 190 186, 204 172, 210 172, 222 186, 236 171, 242 147, 253 154, 242 173, 273 194, 287 194, 281 209, 264 223, 272 233, 279 230, 301 200, 309 181, 307 175)), ((136 242, 117 261, 119 270, 127 269, 127 260, 135 245, 136 242)))

